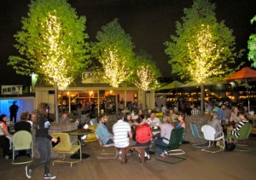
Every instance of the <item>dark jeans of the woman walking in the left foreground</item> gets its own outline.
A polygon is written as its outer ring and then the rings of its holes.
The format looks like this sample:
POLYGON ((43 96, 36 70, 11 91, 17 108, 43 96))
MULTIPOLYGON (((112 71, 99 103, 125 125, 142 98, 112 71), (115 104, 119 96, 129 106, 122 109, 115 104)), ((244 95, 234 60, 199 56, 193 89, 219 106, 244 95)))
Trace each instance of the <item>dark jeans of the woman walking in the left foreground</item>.
POLYGON ((38 148, 40 159, 33 160, 32 164, 28 165, 28 169, 33 170, 38 165, 44 164, 44 174, 49 174, 50 153, 51 153, 50 140, 46 137, 36 136, 35 144, 36 144, 36 148, 38 148))

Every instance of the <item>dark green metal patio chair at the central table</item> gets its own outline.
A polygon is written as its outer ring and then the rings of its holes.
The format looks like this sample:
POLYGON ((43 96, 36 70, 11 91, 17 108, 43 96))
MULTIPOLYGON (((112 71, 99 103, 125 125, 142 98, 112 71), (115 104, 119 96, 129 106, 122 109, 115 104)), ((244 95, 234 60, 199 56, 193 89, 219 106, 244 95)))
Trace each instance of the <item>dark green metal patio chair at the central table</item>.
POLYGON ((169 145, 167 147, 155 144, 154 145, 155 148, 160 148, 164 150, 166 154, 166 158, 162 158, 159 155, 156 155, 156 150, 154 150, 155 160, 160 160, 162 162, 166 162, 170 164, 176 164, 178 162, 186 160, 185 158, 176 156, 176 155, 185 154, 185 152, 182 149, 178 149, 183 142, 183 133, 184 133, 183 128, 173 129, 171 133, 169 145))

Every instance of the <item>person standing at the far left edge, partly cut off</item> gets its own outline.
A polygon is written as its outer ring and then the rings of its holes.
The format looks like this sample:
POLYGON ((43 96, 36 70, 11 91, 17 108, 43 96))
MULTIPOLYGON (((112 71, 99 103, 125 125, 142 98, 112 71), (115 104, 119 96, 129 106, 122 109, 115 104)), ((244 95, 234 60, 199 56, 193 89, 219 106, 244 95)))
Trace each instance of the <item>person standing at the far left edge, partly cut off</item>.
POLYGON ((8 127, 6 125, 7 115, 1 114, 0 115, 0 144, 3 151, 3 157, 5 157, 6 160, 9 160, 9 144, 11 135, 9 134, 8 127), (7 137, 9 136, 9 138, 7 137))

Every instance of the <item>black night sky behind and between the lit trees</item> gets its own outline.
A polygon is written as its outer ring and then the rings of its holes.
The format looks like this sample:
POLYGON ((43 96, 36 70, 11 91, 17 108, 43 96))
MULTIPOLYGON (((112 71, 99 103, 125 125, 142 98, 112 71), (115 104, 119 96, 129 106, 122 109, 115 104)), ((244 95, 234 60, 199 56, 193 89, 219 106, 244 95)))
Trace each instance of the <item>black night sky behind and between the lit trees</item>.
MULTIPOLYGON (((247 49, 247 40, 255 33, 250 20, 256 15, 255 0, 212 0, 216 3, 218 21, 233 29, 236 49, 247 49)), ((0 1, 0 84, 30 85, 30 77, 17 75, 7 66, 9 55, 17 55, 14 34, 21 29, 21 17, 26 17, 30 0, 0 1)), ((183 9, 190 8, 192 0, 68 0, 78 15, 86 16, 86 32, 95 41, 96 32, 103 25, 119 19, 120 25, 130 34, 136 50, 144 49, 152 55, 163 77, 172 77, 167 63, 164 42, 175 34, 175 22, 181 20, 183 9)), ((247 52, 242 58, 247 61, 247 52)))

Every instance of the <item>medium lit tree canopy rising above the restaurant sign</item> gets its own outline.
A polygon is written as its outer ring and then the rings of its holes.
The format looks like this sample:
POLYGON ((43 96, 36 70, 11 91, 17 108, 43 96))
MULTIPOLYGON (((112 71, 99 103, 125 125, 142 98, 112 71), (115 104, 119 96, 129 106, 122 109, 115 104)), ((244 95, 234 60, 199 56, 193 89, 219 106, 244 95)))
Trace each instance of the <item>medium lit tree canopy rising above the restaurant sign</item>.
POLYGON ((97 42, 92 44, 92 55, 102 64, 102 82, 114 88, 124 83, 132 74, 134 61, 131 37, 119 25, 117 19, 102 26, 97 32, 97 42))

